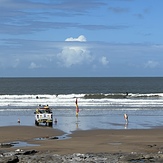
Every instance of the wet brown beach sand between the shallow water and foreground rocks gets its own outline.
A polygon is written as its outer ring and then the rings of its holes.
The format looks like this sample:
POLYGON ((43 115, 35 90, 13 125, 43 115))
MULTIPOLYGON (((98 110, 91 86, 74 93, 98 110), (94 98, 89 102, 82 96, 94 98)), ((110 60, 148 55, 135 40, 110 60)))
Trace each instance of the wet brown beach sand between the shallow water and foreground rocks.
POLYGON ((0 127, 0 143, 23 141, 37 146, 1 148, 36 150, 56 154, 73 153, 158 153, 163 151, 163 129, 75 131, 67 139, 46 139, 61 136, 60 130, 49 127, 0 127), (38 140, 36 138, 45 138, 38 140))

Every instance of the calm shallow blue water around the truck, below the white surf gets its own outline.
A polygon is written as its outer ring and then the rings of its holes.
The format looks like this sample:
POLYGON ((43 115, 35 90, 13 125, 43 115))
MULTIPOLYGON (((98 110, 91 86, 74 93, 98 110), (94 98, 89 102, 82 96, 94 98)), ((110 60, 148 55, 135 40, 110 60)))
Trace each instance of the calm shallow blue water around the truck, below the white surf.
MULTIPOLYGON (((53 110, 54 129, 71 133, 90 129, 149 129, 163 125, 163 110, 80 110, 76 117, 74 110, 53 110), (123 114, 129 115, 126 124, 123 114)), ((34 111, 3 111, 0 113, 0 126, 35 126, 34 111), (20 119, 20 124, 17 120, 20 119)), ((45 125, 42 124, 42 127, 45 125)))

